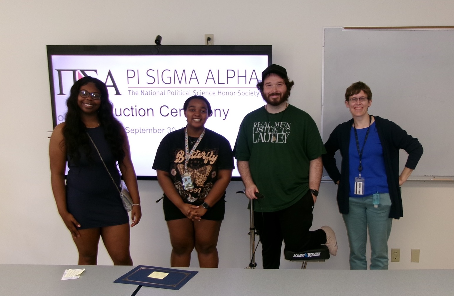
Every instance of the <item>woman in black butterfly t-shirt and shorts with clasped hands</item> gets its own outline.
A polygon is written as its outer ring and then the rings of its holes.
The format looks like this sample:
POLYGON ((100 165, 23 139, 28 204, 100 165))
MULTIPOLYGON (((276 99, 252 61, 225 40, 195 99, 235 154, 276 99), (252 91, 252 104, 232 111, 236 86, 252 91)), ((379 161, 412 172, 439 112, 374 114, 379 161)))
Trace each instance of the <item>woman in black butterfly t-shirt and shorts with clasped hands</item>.
POLYGON ((187 126, 163 138, 153 164, 164 191, 170 263, 189 267, 195 247, 200 267, 217 267, 225 190, 234 168, 232 148, 225 137, 205 128, 212 115, 205 97, 189 97, 183 109, 187 126))

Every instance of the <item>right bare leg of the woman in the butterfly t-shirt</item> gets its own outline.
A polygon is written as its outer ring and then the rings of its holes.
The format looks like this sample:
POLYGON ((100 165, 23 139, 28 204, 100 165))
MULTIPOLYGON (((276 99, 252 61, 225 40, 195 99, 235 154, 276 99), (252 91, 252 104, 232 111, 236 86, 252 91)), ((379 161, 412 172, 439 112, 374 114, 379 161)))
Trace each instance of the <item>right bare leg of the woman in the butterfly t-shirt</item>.
POLYGON ((205 220, 194 221, 195 247, 200 267, 217 267, 217 238, 222 221, 205 220))

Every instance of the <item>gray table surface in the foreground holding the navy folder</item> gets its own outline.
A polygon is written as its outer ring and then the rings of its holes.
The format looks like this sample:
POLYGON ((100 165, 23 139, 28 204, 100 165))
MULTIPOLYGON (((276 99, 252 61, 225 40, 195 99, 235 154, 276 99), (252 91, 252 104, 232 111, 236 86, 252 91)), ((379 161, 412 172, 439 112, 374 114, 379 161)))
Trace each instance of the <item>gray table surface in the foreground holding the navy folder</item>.
MULTIPOLYGON (((137 286, 113 281, 130 266, 0 265, 1 296, 129 296, 137 286), (62 281, 65 269, 85 268, 62 281)), ((454 270, 264 270, 181 268, 198 273, 180 290, 142 287, 137 296, 454 295, 454 270)))

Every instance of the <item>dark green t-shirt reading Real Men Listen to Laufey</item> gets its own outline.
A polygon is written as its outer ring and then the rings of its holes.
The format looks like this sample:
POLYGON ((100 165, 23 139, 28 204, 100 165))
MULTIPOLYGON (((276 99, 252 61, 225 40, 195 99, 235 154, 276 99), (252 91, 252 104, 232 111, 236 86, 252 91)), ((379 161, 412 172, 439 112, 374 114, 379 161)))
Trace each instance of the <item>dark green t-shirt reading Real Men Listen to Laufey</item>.
POLYGON ((254 210, 274 212, 295 204, 309 189, 309 162, 326 153, 309 114, 292 105, 271 114, 261 107, 240 126, 235 158, 249 162, 252 180, 265 198, 254 210))

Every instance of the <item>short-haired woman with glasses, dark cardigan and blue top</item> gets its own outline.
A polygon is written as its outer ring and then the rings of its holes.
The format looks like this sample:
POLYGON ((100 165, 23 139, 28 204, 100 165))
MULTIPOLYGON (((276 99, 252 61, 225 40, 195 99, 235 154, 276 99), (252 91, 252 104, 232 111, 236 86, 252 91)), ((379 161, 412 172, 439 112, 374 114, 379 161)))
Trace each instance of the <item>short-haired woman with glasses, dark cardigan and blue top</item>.
POLYGON ((415 169, 423 148, 418 139, 394 122, 369 115, 372 92, 355 82, 345 92, 352 119, 334 129, 325 143, 323 165, 338 185, 337 203, 350 244, 350 269, 367 269, 369 229, 370 269, 388 269, 388 238, 392 219, 403 217, 400 186, 415 169), (399 150, 408 153, 399 175, 399 150), (334 155, 341 151, 341 171, 334 155))

